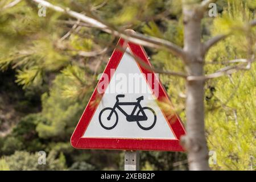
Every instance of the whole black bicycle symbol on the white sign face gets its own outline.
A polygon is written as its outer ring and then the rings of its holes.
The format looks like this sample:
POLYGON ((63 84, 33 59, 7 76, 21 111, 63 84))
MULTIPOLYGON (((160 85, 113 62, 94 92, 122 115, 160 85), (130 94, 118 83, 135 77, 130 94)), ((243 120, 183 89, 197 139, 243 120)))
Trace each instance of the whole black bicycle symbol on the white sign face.
MULTIPOLYGON (((156 123, 156 114, 155 111, 150 108, 150 107, 142 107, 140 102, 143 100, 143 96, 138 97, 137 98, 137 102, 119 102, 118 98, 119 97, 125 97, 125 95, 123 94, 119 94, 117 95, 116 98, 116 102, 114 107, 106 107, 104 109, 101 110, 100 115, 98 116, 98 119, 100 120, 100 124, 101 126, 106 129, 106 130, 111 130, 113 129, 115 126, 117 126, 117 122, 118 122, 118 115, 117 115, 117 111, 115 111, 115 109, 119 109, 125 116, 126 116, 126 120, 128 122, 137 122, 137 125, 142 129, 142 130, 150 130, 152 129, 152 127, 155 126, 156 123), (130 105, 134 105, 134 109, 131 112, 131 114, 127 114, 120 106, 130 106, 130 105), (139 107, 139 111, 137 112, 137 114, 135 115, 135 111, 137 110, 137 108, 139 107), (146 113, 145 113, 146 111, 146 113), (113 114, 114 113, 114 114, 113 114), (103 115, 102 115, 103 114, 103 115), (148 126, 148 114, 152 114, 154 115, 154 121, 152 122, 152 124, 149 123, 148 126), (102 120, 103 118, 103 120, 102 120), (111 122, 110 122, 111 120, 111 122), (146 124, 146 126, 142 126, 142 124, 146 124)), ((152 118, 152 117, 151 117, 152 118)), ((152 119, 151 119, 152 120, 152 119)))

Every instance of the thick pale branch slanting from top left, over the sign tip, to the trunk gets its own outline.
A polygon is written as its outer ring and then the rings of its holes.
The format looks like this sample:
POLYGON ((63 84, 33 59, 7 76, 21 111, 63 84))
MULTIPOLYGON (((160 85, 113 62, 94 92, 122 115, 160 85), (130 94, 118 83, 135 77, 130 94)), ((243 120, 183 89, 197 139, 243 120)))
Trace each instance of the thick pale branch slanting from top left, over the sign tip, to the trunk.
POLYGON ((119 31, 116 29, 110 28, 106 23, 101 22, 98 19, 90 18, 89 16, 77 13, 76 11, 72 11, 69 9, 63 9, 62 7, 52 5, 51 3, 44 1, 44 0, 31 0, 36 3, 40 3, 43 6, 48 7, 49 9, 59 11, 61 13, 67 13, 68 15, 72 16, 76 19, 81 19, 82 22, 91 24, 94 28, 99 28, 102 31, 108 32, 109 34, 113 34, 114 36, 121 36, 123 39, 126 39, 128 41, 141 44, 142 46, 152 47, 152 48, 167 48, 172 53, 174 53, 176 56, 179 56, 181 58, 185 57, 185 53, 182 48, 177 46, 174 43, 169 42, 168 40, 154 38, 152 36, 146 36, 143 34, 129 34, 125 31, 119 31))

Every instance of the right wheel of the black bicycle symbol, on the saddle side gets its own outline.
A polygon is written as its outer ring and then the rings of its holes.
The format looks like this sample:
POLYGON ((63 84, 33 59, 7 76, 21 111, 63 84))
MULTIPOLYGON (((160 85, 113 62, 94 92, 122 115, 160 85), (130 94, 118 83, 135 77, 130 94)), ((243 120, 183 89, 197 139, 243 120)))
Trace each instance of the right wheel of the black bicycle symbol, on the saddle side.
MULTIPOLYGON (((156 114, 151 107, 142 107, 144 113, 147 116, 146 121, 137 121, 137 125, 142 130, 150 130, 155 126, 156 123, 156 114)), ((138 111, 137 115, 141 114, 141 110, 138 111)))

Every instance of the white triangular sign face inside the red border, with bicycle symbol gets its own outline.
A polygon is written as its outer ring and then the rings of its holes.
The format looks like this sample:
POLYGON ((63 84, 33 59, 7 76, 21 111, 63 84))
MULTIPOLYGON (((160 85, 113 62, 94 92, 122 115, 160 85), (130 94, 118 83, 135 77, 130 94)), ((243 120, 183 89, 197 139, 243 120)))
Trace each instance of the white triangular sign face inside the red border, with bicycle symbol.
POLYGON ((127 52, 82 138, 175 139, 146 78, 127 52))

